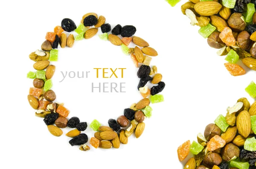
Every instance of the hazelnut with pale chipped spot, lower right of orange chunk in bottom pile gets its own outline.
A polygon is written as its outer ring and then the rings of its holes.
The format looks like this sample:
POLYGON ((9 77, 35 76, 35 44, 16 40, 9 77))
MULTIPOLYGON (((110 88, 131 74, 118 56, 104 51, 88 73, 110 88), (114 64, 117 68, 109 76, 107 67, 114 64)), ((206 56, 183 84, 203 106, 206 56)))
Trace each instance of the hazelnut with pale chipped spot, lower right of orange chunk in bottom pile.
POLYGON ((221 150, 221 156, 224 161, 235 160, 239 157, 240 149, 232 143, 227 144, 221 150))

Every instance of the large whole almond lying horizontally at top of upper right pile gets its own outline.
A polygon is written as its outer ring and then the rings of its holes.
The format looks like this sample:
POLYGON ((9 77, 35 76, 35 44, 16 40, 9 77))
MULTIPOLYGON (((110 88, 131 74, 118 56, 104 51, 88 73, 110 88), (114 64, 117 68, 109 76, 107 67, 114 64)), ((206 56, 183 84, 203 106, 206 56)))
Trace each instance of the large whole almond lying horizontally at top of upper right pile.
POLYGON ((195 4, 196 13, 202 16, 212 16, 218 14, 221 10, 222 5, 215 1, 203 1, 195 4))

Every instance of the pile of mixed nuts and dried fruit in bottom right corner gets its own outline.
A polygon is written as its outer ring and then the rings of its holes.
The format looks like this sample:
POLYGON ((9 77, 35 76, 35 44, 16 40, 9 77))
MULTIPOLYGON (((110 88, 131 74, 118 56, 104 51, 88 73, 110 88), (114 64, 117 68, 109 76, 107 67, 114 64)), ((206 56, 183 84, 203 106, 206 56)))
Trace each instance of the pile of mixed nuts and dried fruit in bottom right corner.
POLYGON ((205 127, 197 141, 187 140, 177 149, 178 159, 192 158, 184 169, 256 169, 256 101, 242 97, 205 127))

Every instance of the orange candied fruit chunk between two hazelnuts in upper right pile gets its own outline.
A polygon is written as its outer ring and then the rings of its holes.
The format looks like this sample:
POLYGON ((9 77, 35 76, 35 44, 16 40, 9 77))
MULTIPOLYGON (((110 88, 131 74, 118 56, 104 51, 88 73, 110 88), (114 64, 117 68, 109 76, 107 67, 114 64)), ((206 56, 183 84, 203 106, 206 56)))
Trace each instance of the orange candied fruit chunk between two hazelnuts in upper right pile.
POLYGON ((226 43, 227 46, 235 46, 236 45, 236 40, 235 37, 232 33, 232 30, 226 26, 223 31, 220 33, 219 37, 221 40, 226 43))

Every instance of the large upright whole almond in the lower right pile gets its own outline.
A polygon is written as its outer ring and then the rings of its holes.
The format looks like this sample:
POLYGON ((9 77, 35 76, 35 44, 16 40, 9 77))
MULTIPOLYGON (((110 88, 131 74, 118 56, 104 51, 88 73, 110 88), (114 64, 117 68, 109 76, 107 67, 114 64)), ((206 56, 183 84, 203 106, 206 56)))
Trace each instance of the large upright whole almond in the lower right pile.
POLYGON ((236 126, 239 134, 243 137, 248 137, 248 135, 250 135, 251 121, 250 115, 246 110, 240 112, 236 117, 236 126))

